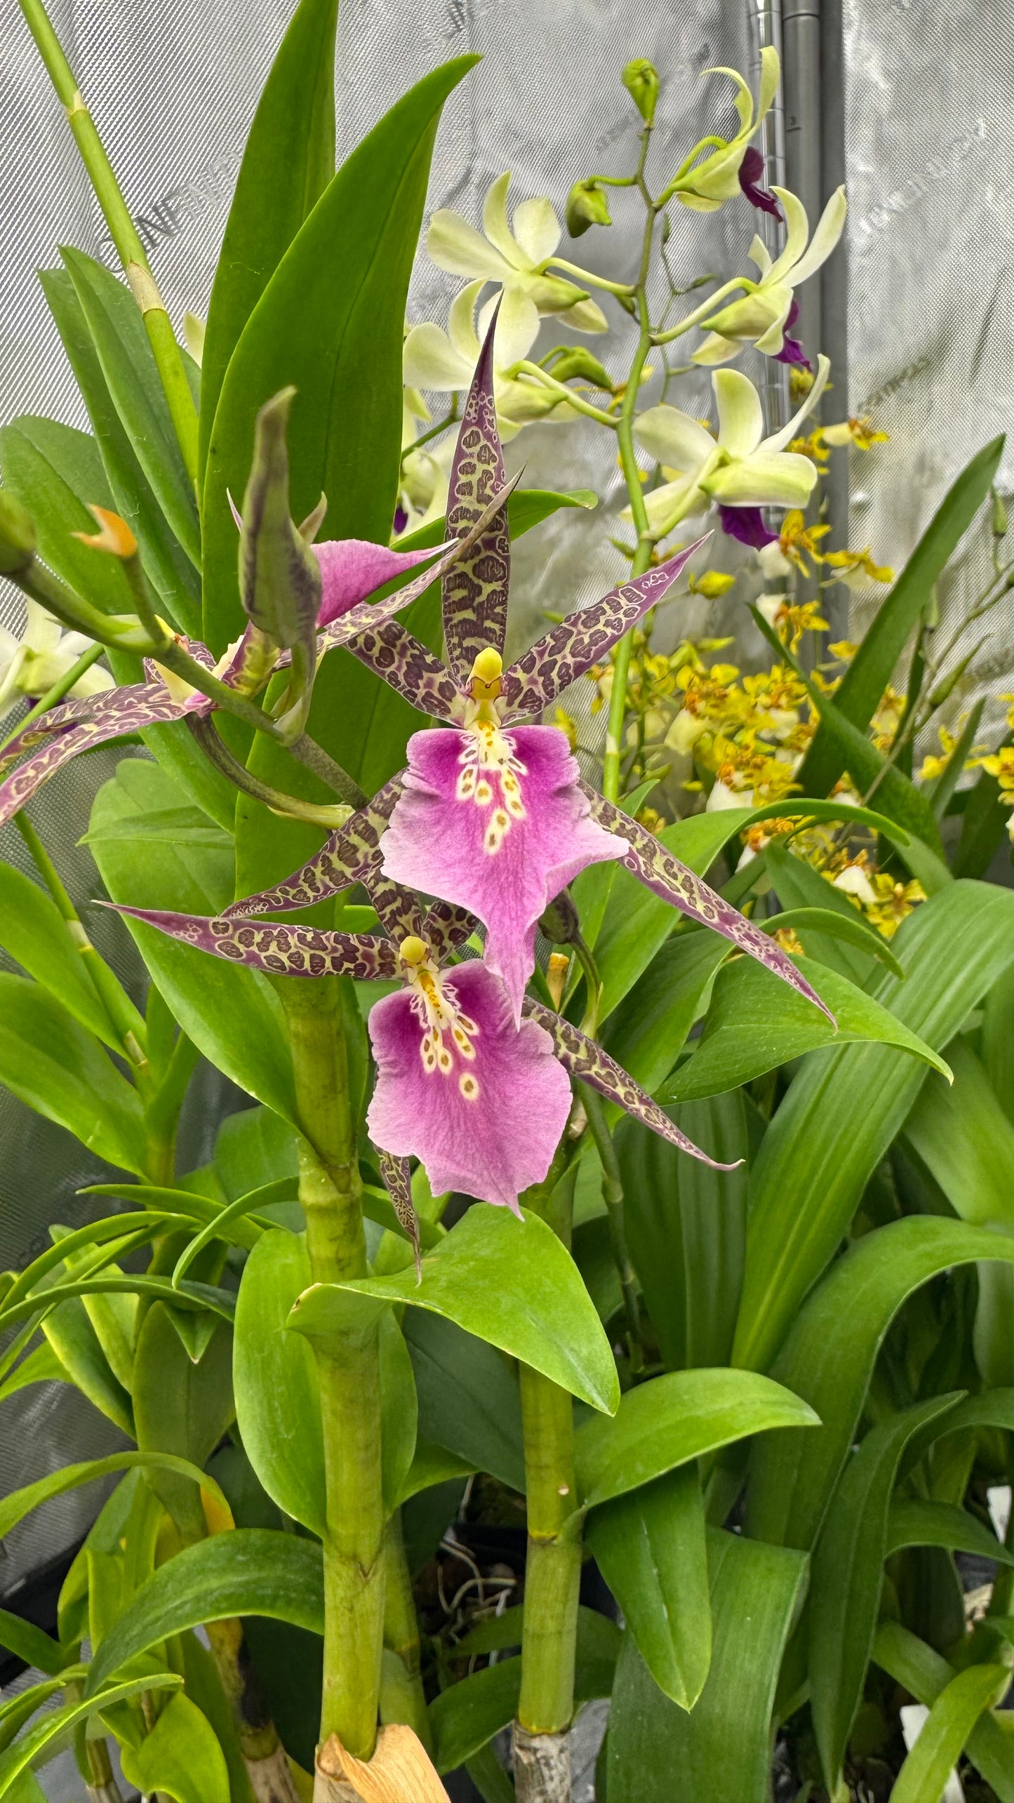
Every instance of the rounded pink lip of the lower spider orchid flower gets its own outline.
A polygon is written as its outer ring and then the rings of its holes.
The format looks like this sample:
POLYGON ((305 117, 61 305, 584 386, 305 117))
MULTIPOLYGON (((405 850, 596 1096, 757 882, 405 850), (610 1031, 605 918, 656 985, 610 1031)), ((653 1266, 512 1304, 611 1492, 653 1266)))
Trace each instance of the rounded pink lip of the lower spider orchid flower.
POLYGON ((478 959, 433 988, 429 999, 386 995, 370 1011, 370 1138, 392 1158, 419 1158, 435 1194, 462 1190, 518 1212, 567 1127, 567 1071, 539 1024, 514 1026, 503 984, 478 959))

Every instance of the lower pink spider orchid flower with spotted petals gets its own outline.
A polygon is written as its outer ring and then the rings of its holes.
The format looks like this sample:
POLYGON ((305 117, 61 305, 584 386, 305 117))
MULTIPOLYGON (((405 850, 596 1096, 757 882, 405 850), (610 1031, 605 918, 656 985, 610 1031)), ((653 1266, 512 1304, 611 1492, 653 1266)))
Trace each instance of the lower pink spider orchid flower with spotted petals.
MULTIPOLYGON (((567 1127, 570 1076, 711 1165, 651 1096, 577 1028, 527 997, 520 1028, 502 979, 478 957, 451 965, 475 920, 437 902, 426 912, 381 871, 381 835, 399 784, 390 783, 334 835, 328 882, 363 882, 383 934, 278 925, 235 902, 217 920, 121 905, 117 911, 235 965, 274 975, 401 977, 370 1010, 377 1084, 366 1125, 384 1154, 384 1181, 415 1233, 406 1159, 419 1158, 435 1194, 462 1190, 518 1210, 541 1183, 567 1127), (408 1201, 406 1201, 408 1199, 408 1201)), ((718 1165, 727 1170, 731 1167, 718 1165)))

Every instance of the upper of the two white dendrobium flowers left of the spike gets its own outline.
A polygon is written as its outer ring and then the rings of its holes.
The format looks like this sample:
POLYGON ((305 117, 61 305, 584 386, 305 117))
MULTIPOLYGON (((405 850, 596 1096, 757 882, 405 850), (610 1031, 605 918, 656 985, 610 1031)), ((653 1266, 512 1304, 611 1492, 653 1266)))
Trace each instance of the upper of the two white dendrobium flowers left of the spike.
POLYGON ((547 272, 561 234, 552 202, 521 200, 514 207, 511 231, 509 184, 511 171, 500 175, 489 189, 482 209, 482 233, 453 207, 440 207, 433 215, 426 249, 437 269, 446 269, 451 276, 473 276, 484 283, 496 281, 505 299, 512 292, 527 294, 539 314, 561 314, 576 332, 608 332, 603 308, 588 299, 585 288, 547 272))

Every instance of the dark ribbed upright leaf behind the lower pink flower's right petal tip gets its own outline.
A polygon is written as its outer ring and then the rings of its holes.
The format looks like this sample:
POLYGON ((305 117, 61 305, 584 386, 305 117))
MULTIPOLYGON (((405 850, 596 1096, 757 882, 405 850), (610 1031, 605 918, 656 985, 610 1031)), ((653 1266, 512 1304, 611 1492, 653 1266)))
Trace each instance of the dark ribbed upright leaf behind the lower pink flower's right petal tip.
MULTIPOLYGON (((720 1163, 747 1158, 742 1091, 686 1102, 671 1118, 720 1163)), ((628 1249, 662 1363, 727 1365, 747 1244, 745 1163, 713 1170, 633 1120, 619 1129, 615 1149, 628 1249)))

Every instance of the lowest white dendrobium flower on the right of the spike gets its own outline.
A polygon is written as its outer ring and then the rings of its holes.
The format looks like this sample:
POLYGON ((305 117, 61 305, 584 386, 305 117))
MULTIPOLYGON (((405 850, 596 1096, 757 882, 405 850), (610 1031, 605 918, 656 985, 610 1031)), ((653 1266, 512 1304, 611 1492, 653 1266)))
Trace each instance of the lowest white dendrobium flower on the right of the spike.
POLYGON ((760 395, 740 370, 711 377, 718 407, 718 436, 680 407, 650 407, 633 431, 641 445, 671 476, 644 496, 648 525, 662 539, 680 519, 720 507, 805 507, 817 481, 816 463, 785 445, 816 407, 830 362, 821 357, 817 379, 799 411, 778 433, 763 436, 760 395))

